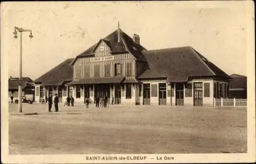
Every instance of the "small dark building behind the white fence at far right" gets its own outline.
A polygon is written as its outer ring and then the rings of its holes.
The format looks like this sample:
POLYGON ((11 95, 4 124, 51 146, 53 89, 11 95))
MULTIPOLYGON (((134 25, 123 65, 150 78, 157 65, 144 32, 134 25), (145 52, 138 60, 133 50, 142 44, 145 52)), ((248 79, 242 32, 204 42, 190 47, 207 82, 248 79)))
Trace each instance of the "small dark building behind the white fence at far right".
POLYGON ((232 80, 229 85, 229 98, 247 98, 247 77, 239 74, 231 74, 232 80))

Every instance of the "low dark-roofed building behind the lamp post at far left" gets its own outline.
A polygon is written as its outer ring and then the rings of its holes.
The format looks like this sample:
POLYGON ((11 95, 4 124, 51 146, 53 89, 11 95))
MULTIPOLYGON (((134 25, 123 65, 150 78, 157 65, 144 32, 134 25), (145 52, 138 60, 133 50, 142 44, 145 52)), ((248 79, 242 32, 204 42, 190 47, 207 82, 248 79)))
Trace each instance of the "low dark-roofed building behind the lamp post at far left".
POLYGON ((19 84, 22 85, 22 96, 35 94, 35 87, 31 78, 22 77, 22 80, 19 80, 18 77, 10 77, 8 79, 9 101, 11 101, 11 96, 13 96, 13 100, 18 99, 19 84))

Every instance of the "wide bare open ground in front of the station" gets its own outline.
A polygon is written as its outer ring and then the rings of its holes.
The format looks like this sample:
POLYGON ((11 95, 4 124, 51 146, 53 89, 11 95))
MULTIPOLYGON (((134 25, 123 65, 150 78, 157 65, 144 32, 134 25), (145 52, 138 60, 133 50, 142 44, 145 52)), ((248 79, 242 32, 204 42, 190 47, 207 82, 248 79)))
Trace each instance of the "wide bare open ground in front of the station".
POLYGON ((246 108, 25 104, 11 115, 9 154, 169 154, 247 152, 246 108), (54 106, 52 108, 54 110, 54 106))

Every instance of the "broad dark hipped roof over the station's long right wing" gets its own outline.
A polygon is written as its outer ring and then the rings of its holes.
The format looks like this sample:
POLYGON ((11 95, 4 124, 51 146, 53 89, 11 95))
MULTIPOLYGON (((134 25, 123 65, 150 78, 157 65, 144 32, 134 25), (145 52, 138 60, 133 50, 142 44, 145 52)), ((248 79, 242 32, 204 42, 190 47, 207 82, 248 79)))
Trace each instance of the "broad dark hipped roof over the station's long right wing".
POLYGON ((192 47, 143 51, 148 69, 139 78, 166 77, 170 82, 186 81, 188 77, 221 76, 230 78, 192 47))

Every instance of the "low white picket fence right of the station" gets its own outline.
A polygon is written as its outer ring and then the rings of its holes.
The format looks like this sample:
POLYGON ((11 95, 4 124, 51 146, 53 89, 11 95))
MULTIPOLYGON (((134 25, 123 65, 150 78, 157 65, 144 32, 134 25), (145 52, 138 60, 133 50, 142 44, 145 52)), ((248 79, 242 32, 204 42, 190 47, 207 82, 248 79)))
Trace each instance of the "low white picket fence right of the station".
POLYGON ((247 106, 247 99, 214 98, 214 106, 247 106))

